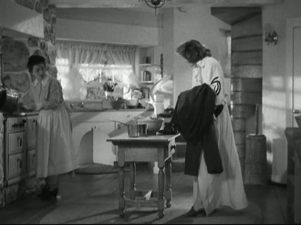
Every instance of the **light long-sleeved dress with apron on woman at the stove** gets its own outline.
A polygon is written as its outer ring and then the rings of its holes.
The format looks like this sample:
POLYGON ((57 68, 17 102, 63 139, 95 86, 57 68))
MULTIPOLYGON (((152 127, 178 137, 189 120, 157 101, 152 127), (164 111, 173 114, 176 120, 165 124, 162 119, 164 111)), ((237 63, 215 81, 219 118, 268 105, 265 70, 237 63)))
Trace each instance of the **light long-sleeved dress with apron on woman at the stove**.
POLYGON ((43 103, 37 120, 36 176, 59 175, 76 169, 71 123, 60 83, 52 76, 35 80, 23 104, 43 103))

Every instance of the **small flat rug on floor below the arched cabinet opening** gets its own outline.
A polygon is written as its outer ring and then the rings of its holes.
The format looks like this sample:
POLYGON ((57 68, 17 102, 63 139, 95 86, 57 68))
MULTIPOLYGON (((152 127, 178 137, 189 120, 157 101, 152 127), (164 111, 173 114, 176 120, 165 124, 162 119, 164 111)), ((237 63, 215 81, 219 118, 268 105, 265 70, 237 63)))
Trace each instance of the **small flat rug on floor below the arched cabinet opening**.
MULTIPOLYGON (((75 174, 104 174, 104 173, 116 173, 119 169, 117 166, 110 166, 98 163, 90 163, 80 165, 75 169, 75 174)), ((129 171, 129 167, 125 166, 125 171, 129 171)))

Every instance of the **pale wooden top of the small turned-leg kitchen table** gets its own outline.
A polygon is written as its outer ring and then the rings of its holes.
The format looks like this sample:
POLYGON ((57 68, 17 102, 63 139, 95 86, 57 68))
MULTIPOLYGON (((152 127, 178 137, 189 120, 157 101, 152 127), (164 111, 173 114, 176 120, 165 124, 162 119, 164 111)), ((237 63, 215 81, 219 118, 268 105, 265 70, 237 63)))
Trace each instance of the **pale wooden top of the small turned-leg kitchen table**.
POLYGON ((171 139, 180 136, 180 134, 173 134, 173 135, 149 135, 145 137, 137 137, 137 138, 130 138, 128 133, 121 134, 115 136, 113 138, 109 138, 106 141, 112 142, 168 142, 171 139))

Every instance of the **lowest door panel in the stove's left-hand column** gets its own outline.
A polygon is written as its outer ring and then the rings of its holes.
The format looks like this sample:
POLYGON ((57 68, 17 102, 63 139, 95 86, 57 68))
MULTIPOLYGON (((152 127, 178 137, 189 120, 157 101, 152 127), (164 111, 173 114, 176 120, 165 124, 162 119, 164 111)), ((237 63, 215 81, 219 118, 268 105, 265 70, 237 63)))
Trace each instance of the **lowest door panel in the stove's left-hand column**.
POLYGON ((26 153, 8 157, 8 179, 20 176, 26 172, 26 153))

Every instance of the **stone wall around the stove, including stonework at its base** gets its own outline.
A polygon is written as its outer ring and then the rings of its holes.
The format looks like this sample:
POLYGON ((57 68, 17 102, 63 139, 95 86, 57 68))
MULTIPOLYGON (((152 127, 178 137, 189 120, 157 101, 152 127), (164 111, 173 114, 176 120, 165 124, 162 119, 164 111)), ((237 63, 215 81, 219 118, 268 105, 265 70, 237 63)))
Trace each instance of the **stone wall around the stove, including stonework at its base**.
MULTIPOLYGON (((47 71, 57 77, 55 66, 55 7, 48 0, 15 0, 16 3, 43 14, 44 38, 30 37, 13 39, 2 36, 0 30, 0 53, 3 55, 3 83, 8 87, 26 92, 31 84, 31 76, 27 71, 27 60, 31 55, 41 55, 46 58, 47 71)), ((42 180, 35 177, 4 186, 3 184, 3 119, 0 115, 0 205, 8 204, 20 197, 36 192, 42 180)))

